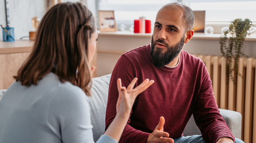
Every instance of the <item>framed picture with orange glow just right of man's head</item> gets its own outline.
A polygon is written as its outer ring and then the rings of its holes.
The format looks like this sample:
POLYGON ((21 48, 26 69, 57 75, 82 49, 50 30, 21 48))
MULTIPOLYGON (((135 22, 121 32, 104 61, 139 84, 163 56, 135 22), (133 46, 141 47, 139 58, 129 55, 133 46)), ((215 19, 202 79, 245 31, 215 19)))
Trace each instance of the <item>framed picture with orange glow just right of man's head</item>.
POLYGON ((205 10, 193 11, 195 16, 195 22, 193 30, 195 33, 204 33, 205 30, 205 10))

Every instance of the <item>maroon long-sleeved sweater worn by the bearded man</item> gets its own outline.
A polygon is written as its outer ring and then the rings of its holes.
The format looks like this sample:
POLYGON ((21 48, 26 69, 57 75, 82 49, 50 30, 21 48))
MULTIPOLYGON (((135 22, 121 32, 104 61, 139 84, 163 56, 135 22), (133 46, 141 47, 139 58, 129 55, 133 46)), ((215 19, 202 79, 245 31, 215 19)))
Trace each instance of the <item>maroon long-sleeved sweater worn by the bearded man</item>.
POLYGON ((120 143, 145 143, 161 116, 165 118, 164 131, 169 137, 182 137, 192 114, 206 142, 217 142, 220 137, 234 140, 219 113, 202 60, 182 51, 178 66, 156 68, 152 64, 150 45, 124 53, 116 63, 109 86, 106 128, 116 115, 117 79, 121 78, 122 85, 127 87, 135 77, 138 78, 135 87, 146 78, 155 83, 136 98, 120 143))

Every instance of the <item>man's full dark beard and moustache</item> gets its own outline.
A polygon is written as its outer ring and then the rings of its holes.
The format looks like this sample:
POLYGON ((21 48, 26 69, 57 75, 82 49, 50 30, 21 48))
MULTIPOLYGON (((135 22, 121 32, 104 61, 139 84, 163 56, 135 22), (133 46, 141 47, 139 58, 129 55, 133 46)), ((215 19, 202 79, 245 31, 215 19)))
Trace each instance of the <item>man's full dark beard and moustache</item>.
POLYGON ((174 46, 169 46, 164 40, 162 39, 157 39, 154 41, 153 36, 151 40, 151 58, 152 62, 155 67, 160 68, 163 67, 170 62, 172 62, 180 53, 180 51, 183 48, 184 45, 184 39, 185 35, 181 38, 181 40, 174 46), (166 48, 158 48, 156 47, 156 43, 162 43, 163 45, 166 46, 166 48), (164 51, 166 49, 166 51, 164 51))

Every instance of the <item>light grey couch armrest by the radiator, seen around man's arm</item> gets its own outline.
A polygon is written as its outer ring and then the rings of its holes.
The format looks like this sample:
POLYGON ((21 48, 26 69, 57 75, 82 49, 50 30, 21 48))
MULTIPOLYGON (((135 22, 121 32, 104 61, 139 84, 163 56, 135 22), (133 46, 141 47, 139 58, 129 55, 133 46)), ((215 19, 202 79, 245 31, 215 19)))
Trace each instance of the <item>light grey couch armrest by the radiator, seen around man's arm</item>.
MULTIPOLYGON (((226 121, 234 137, 241 139, 242 115, 236 111, 231 111, 226 109, 219 109, 219 110, 220 110, 221 116, 226 121)), ((201 135, 201 132, 197 127, 193 116, 191 116, 191 118, 189 119, 185 127, 185 130, 183 132, 183 135, 184 136, 201 135)))

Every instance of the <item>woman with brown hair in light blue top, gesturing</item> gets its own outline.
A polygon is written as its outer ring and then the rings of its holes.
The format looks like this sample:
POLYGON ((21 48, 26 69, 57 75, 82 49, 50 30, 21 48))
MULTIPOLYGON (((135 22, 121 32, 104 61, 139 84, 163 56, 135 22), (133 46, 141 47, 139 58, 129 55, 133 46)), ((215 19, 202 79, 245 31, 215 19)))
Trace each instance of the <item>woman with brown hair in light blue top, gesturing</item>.
MULTIPOLYGON (((94 142, 88 97, 89 64, 98 37, 92 13, 81 3, 61 3, 43 17, 34 49, 0 102, 0 143, 94 142)), ((116 117, 97 142, 118 142, 138 94, 153 80, 122 87, 116 117)))

